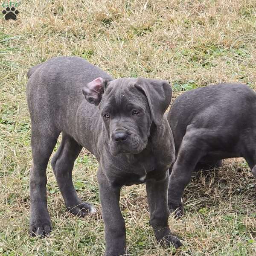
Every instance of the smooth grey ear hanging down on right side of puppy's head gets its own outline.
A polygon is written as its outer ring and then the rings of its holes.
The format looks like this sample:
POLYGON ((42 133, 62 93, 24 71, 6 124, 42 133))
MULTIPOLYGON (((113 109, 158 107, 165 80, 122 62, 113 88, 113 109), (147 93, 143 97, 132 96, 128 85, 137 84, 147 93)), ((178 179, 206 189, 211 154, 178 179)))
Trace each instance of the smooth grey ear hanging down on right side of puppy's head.
POLYGON ((172 99, 171 85, 164 80, 138 78, 135 87, 145 93, 152 119, 157 126, 161 126, 172 99))

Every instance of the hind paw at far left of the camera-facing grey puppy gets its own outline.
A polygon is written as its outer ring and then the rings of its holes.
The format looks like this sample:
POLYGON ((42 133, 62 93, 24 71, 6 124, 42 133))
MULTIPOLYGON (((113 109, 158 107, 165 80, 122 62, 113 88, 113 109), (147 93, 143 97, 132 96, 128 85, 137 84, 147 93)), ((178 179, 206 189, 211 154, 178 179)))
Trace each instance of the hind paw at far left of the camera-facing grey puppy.
POLYGON ((30 223, 29 233, 30 236, 47 237, 52 231, 52 223, 50 220, 32 221, 30 223))

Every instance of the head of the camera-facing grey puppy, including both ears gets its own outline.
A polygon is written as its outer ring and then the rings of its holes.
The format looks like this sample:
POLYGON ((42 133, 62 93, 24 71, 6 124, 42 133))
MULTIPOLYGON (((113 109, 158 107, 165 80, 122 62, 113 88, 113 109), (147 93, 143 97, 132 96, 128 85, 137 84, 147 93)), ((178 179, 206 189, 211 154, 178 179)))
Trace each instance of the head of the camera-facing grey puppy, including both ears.
POLYGON ((143 78, 97 78, 82 91, 88 102, 99 105, 113 155, 143 151, 152 122, 162 125, 172 99, 168 82, 143 78))

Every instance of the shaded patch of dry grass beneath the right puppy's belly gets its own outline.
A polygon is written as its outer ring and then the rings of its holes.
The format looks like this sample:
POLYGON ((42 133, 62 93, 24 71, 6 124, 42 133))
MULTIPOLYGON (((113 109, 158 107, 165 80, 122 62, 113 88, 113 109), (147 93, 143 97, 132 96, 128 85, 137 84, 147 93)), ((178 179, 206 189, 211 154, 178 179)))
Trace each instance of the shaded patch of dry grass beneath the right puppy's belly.
MULTIPOLYGON (((256 198, 255 179, 250 169, 239 160, 224 160, 218 168, 197 169, 183 194, 188 211, 221 207, 223 202, 235 202, 238 197, 256 198)), ((252 204, 253 205, 253 204, 252 204)))

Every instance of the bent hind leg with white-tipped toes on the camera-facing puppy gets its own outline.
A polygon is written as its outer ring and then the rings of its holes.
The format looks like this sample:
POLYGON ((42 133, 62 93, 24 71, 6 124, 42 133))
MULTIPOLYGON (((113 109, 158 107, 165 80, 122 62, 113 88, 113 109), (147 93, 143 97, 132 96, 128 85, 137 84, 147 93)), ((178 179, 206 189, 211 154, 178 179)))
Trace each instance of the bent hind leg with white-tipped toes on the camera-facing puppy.
POLYGON ((81 149, 81 145, 68 134, 63 133, 61 145, 53 156, 51 164, 67 209, 74 215, 84 216, 96 210, 92 205, 80 200, 73 186, 72 170, 81 149))

